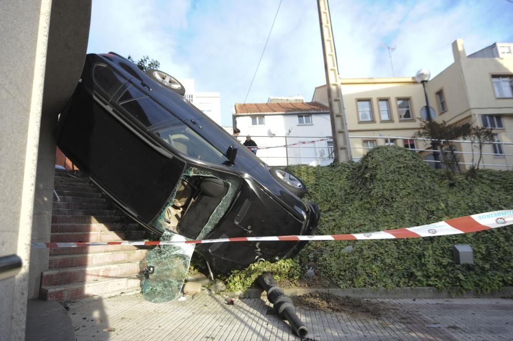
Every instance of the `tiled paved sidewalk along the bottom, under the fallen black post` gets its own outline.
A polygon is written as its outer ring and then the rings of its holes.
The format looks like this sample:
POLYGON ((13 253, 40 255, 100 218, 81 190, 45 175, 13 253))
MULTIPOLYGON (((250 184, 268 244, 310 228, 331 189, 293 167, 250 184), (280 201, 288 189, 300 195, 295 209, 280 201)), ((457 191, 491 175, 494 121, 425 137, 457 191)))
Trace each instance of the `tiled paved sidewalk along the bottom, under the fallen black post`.
MULTIPOLYGON (((194 298, 154 304, 141 294, 68 303, 77 341, 101 340, 299 340, 267 301, 205 291, 194 298)), ((297 308, 304 340, 513 340, 513 299, 372 299, 376 318, 297 308)))

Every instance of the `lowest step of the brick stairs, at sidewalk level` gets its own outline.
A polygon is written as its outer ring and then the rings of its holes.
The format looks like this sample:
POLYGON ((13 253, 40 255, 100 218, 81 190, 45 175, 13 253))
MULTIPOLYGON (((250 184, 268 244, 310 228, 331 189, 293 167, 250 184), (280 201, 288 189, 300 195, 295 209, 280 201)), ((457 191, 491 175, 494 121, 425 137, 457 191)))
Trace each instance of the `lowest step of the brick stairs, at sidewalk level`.
POLYGON ((42 287, 40 297, 46 300, 75 300, 95 295, 108 297, 122 292, 132 293, 141 291, 141 280, 135 276, 100 279, 96 282, 73 283, 64 286, 42 287))

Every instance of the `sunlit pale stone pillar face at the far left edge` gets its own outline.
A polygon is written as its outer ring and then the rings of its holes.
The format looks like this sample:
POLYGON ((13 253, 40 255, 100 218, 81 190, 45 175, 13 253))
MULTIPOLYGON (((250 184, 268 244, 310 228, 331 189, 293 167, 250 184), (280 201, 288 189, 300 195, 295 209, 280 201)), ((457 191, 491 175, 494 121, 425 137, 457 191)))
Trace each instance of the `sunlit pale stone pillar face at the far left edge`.
POLYGON ((17 254, 21 272, 0 282, 0 340, 25 339, 37 147, 51 1, 0 8, 0 255, 17 254))

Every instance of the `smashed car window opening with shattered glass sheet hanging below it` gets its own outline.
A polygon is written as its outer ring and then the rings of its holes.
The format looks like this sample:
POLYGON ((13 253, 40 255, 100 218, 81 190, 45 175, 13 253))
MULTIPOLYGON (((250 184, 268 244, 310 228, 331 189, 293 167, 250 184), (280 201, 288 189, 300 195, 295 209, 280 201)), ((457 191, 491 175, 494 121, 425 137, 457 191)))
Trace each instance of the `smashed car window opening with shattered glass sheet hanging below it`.
MULTIPOLYGON (((164 231, 161 241, 190 240, 206 237, 217 226, 232 203, 241 179, 197 167, 186 169, 169 203, 151 224, 164 231), (205 179, 216 179, 224 186, 218 196, 201 190, 205 179)), ((148 254, 143 284, 145 299, 168 302, 180 296, 187 277, 195 244, 159 245, 148 254)))

